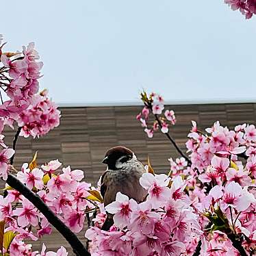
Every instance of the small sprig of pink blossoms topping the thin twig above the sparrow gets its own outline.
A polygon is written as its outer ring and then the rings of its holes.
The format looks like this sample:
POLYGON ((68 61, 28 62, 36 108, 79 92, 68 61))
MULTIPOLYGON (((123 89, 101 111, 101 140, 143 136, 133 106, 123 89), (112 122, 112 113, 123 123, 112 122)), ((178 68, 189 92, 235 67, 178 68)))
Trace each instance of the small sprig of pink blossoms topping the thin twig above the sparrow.
POLYGON ((136 118, 140 121, 142 127, 144 127, 147 136, 153 138, 153 133, 158 129, 161 129, 162 133, 168 133, 169 125, 175 125, 176 123, 175 112, 173 110, 166 110, 162 114, 164 110, 164 99, 155 92, 149 94, 149 97, 146 92, 143 92, 141 98, 145 106, 136 118), (155 115, 155 120, 153 120, 152 125, 149 125, 151 112, 155 115))

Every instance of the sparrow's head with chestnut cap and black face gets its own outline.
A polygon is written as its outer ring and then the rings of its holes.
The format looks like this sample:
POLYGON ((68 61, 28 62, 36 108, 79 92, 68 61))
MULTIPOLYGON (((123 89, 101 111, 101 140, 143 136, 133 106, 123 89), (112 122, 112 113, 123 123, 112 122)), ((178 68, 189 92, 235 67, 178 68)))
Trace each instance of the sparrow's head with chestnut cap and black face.
POLYGON ((107 164, 109 170, 117 170, 116 163, 125 163, 133 158, 133 151, 125 146, 114 146, 105 153, 103 164, 107 164))

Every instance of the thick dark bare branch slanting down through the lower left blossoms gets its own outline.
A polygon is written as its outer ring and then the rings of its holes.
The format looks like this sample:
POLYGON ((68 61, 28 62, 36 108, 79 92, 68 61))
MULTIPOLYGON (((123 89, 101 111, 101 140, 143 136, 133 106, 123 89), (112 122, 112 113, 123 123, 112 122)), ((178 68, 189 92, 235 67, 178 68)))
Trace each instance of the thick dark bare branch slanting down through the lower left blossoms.
POLYGON ((68 229, 66 225, 59 219, 55 214, 45 205, 45 203, 40 199, 39 196, 34 194, 31 190, 29 190, 21 181, 19 181, 13 175, 8 175, 8 179, 6 181, 8 185, 12 188, 23 194, 26 199, 28 199, 33 205, 47 218, 49 223, 59 231, 63 237, 68 241, 68 243, 73 248, 73 252, 77 256, 90 256, 90 253, 84 247, 84 244, 77 238, 77 235, 68 229))

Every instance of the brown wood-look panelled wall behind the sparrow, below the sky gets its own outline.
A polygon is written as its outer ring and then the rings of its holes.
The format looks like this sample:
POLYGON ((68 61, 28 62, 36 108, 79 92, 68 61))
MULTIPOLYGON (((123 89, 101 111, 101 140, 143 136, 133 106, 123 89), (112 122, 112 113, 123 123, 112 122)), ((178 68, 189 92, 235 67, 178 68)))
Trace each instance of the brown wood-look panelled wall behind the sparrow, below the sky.
MULTIPOLYGON (((177 125, 170 128, 171 135, 185 151, 185 142, 195 120, 201 129, 210 127, 215 120, 222 125, 234 127, 239 123, 253 123, 256 119, 256 104, 212 104, 212 105, 172 105, 166 109, 175 110, 177 125)), ((101 159, 107 149, 124 145, 136 152, 145 164, 149 155, 157 172, 167 171, 168 158, 177 157, 177 152, 157 132, 153 139, 146 137, 136 114, 140 106, 127 107, 62 107, 60 127, 42 138, 18 138, 15 166, 29 162, 38 151, 38 164, 51 159, 60 159, 64 166, 84 170, 86 180, 96 183, 105 169, 101 159)), ((14 131, 7 128, 5 142, 11 146, 14 131)))

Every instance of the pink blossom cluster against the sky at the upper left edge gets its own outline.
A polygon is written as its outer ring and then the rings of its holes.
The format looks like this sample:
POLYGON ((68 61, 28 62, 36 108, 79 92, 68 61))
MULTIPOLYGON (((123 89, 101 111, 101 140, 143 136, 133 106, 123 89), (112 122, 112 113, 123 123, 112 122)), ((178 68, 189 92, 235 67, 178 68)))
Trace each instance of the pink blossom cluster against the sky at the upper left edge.
MULTIPOLYGON (((1 44, 1 42, 0 42, 1 44)), ((1 45, 1 49, 4 44, 1 45)), ((30 105, 31 97, 39 90, 42 62, 34 49, 34 43, 23 47, 22 53, 1 51, 0 90, 10 98, 0 106, 1 121, 12 125, 23 110, 30 105), (3 120, 5 118, 5 120, 3 120)))

